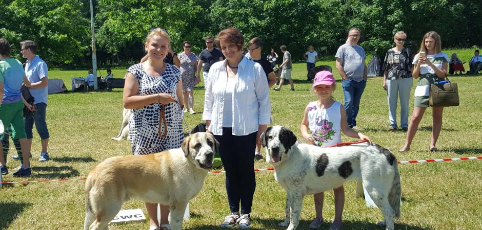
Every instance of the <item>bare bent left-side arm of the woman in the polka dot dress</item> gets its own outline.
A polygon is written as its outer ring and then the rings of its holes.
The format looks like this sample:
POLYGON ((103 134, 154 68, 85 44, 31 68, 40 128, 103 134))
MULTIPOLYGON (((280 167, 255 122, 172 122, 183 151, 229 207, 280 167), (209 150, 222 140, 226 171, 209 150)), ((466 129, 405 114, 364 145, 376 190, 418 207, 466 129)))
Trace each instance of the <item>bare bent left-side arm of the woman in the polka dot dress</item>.
MULTIPOLYGON (((182 87, 182 85, 181 85, 182 87)), ((153 103, 168 104, 176 102, 176 99, 169 94, 151 94, 151 95, 137 95, 139 92, 139 81, 135 79, 131 73, 126 74, 126 82, 124 83, 124 93, 122 102, 124 108, 136 109, 142 108, 153 103)))

